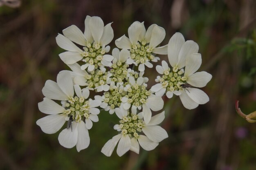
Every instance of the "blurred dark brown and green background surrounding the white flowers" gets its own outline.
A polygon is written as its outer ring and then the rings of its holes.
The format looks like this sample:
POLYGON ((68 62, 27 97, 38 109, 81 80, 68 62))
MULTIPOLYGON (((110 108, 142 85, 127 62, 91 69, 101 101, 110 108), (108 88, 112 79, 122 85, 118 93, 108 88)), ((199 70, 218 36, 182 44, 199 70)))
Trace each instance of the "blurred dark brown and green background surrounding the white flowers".
MULTIPOLYGON (((148 86, 156 75, 155 68, 146 70, 148 86)), ((256 110, 255 0, 24 0, 15 9, 0 7, 1 170, 255 170, 256 124, 236 114, 237 99, 244 113, 256 110), (72 24, 83 31, 86 15, 113 22, 114 40, 138 20, 164 27, 162 44, 177 31, 199 44, 199 71, 213 75, 202 88, 210 102, 187 110, 179 97, 164 98, 169 137, 155 150, 103 155, 102 146, 117 134, 115 115, 105 112, 81 152, 63 148, 59 132, 47 135, 36 125, 45 116, 37 107, 45 81, 68 69, 55 37, 72 24)))

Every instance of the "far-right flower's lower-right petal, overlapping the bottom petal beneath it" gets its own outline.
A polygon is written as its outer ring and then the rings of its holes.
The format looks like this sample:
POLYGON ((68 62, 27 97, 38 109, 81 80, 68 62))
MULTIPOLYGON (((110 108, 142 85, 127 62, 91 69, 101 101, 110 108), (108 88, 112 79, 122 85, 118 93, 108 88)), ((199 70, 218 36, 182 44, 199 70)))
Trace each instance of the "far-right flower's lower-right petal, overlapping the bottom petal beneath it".
POLYGON ((198 104, 206 104, 209 102, 209 97, 204 91, 198 88, 187 88, 187 95, 198 104))

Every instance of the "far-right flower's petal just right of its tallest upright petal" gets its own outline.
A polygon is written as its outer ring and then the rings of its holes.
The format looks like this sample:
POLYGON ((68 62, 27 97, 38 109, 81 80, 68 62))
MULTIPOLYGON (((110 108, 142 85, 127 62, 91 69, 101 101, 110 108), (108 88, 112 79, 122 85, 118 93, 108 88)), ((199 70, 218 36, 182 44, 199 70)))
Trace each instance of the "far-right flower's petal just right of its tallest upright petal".
POLYGON ((186 58, 193 53, 197 53, 198 49, 199 46, 196 42, 192 40, 186 41, 180 49, 178 68, 183 68, 186 64, 186 58))

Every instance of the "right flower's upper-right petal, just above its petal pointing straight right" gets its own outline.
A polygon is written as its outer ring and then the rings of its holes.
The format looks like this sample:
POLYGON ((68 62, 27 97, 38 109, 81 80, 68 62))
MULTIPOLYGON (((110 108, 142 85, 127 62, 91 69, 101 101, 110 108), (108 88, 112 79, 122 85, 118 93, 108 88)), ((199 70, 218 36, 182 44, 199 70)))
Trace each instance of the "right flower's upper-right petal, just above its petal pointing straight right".
POLYGON ((186 58, 186 68, 184 76, 195 73, 202 64, 202 57, 200 53, 193 53, 186 58))

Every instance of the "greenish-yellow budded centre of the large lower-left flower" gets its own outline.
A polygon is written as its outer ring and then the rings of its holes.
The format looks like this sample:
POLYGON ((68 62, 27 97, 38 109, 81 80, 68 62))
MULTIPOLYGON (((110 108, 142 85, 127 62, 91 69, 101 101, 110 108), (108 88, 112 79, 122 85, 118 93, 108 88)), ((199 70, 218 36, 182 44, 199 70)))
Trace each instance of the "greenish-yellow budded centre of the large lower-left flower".
POLYGON ((83 117, 89 117, 89 101, 83 97, 72 97, 64 104, 65 114, 72 117, 74 121, 79 122, 83 117))

